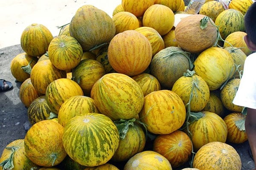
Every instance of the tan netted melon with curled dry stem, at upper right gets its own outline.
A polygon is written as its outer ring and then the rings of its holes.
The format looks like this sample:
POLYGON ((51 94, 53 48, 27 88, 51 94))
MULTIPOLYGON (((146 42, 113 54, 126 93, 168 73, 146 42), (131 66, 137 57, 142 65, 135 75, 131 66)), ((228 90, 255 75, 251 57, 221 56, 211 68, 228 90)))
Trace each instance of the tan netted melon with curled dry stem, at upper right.
POLYGON ((216 27, 210 23, 214 23, 209 19, 207 27, 200 27, 200 20, 206 15, 195 14, 184 17, 175 27, 175 38, 180 48, 190 53, 199 53, 205 49, 212 47, 217 39, 216 27))

